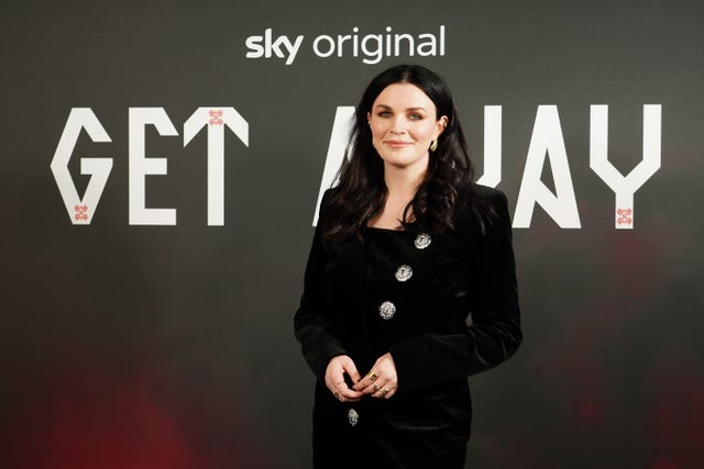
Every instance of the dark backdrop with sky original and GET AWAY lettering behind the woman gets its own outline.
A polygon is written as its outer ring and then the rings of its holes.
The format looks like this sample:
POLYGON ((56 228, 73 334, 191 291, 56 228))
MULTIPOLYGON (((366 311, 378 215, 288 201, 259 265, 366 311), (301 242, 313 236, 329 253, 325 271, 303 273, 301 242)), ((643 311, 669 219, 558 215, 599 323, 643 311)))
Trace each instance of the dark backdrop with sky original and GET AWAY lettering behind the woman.
POLYGON ((515 220, 526 340, 471 379, 466 467, 701 467, 703 20, 685 0, 6 2, 0 466, 309 467, 292 316, 336 113, 413 62, 449 81, 515 220))

